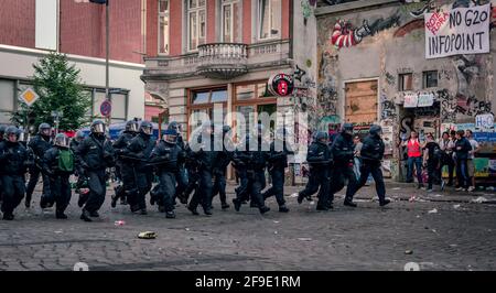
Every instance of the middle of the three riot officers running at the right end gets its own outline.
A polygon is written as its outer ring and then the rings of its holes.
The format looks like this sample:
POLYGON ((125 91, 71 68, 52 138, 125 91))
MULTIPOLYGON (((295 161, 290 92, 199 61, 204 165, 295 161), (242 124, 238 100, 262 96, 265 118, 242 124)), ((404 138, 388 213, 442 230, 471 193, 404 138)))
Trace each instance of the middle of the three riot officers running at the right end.
POLYGON ((334 200, 334 194, 343 189, 345 181, 348 181, 346 188, 345 206, 356 207, 353 202, 353 193, 357 185, 353 165, 355 162, 355 142, 353 141, 353 124, 345 123, 331 146, 334 159, 333 172, 331 175, 330 202, 334 200))

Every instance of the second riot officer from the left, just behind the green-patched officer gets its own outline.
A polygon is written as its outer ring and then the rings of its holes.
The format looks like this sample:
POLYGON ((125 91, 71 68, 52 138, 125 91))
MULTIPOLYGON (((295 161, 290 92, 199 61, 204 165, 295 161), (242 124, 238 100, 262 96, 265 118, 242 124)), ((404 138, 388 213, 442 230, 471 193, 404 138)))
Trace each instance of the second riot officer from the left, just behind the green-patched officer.
POLYGON ((28 143, 28 146, 32 150, 34 154, 34 165, 30 167, 30 181, 25 187, 25 207, 31 206, 31 198, 36 187, 37 181, 40 180, 40 174, 43 178, 43 193, 40 199, 40 206, 42 208, 46 207, 46 198, 50 198, 50 181, 46 174, 42 172, 43 156, 45 152, 52 148, 50 142, 52 135, 52 127, 48 123, 41 123, 37 128, 37 134, 28 143))

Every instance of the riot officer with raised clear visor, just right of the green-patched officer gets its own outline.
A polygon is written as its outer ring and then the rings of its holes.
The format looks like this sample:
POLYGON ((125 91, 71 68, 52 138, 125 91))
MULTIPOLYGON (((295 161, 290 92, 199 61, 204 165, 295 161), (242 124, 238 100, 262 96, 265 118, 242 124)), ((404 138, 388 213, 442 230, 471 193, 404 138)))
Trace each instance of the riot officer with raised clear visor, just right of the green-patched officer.
POLYGON ((89 196, 84 204, 80 219, 91 221, 97 218, 98 209, 105 202, 106 169, 112 166, 114 148, 106 138, 106 126, 101 120, 95 120, 90 127, 91 133, 76 150, 85 176, 88 178, 89 196))

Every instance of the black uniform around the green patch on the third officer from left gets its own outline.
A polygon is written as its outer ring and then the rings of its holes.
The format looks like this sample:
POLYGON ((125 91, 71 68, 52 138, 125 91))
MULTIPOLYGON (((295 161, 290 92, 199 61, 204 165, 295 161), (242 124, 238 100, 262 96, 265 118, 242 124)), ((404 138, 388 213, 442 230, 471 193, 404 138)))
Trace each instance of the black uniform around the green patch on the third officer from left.
MULTIPOLYGON (((43 156, 43 171, 47 174, 50 181, 50 191, 52 196, 48 205, 53 205, 55 203, 55 216, 64 219, 67 218, 64 215, 64 211, 71 203, 72 192, 69 177, 74 174, 74 171, 63 171, 58 167, 58 155, 61 149, 62 148, 54 145, 52 149, 46 151, 43 156)), ((73 155, 74 162, 74 154, 72 151, 71 155, 73 155)))

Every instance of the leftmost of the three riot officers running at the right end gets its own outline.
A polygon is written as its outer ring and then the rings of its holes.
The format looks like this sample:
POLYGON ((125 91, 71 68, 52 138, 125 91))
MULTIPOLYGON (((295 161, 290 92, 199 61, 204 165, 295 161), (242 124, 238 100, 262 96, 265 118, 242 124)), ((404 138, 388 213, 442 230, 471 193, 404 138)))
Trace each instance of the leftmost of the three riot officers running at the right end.
POLYGON ((312 200, 320 187, 317 210, 328 210, 327 196, 330 187, 328 165, 332 163, 331 150, 328 148, 328 133, 320 131, 314 137, 306 154, 306 162, 310 165, 310 177, 306 187, 298 194, 298 203, 303 198, 312 200))

